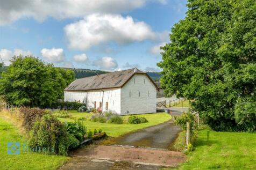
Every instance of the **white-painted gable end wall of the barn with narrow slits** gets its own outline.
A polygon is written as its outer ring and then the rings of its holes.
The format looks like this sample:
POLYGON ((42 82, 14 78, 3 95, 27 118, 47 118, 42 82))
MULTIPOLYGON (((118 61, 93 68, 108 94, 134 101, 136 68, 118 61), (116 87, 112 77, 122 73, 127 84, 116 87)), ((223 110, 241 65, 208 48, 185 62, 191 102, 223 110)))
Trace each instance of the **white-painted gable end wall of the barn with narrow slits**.
POLYGON ((122 115, 155 113, 156 104, 157 89, 146 75, 134 75, 121 89, 122 115))

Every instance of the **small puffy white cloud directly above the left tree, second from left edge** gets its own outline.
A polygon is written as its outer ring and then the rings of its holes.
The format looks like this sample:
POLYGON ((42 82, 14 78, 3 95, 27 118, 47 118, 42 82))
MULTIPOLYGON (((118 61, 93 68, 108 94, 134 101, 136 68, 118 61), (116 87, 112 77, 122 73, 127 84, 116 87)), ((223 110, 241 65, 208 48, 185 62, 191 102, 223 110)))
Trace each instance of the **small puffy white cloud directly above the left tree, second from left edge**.
POLYGON ((65 54, 62 48, 43 48, 41 50, 41 55, 49 62, 60 63, 65 60, 65 54))

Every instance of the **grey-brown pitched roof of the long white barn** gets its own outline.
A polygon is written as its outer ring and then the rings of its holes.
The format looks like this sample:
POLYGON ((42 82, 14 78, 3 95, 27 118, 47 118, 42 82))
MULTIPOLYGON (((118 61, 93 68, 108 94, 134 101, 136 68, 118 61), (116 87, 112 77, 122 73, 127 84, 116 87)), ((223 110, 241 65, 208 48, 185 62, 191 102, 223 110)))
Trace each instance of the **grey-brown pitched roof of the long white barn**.
MULTIPOLYGON (((65 91, 89 91, 89 90, 99 90, 105 88, 118 88, 123 87, 126 82, 128 82, 134 74, 145 74, 151 82, 155 85, 150 76, 146 72, 141 71, 137 68, 109 72, 102 75, 84 77, 74 80, 69 84, 65 91)), ((157 85, 155 87, 158 88, 157 85)))

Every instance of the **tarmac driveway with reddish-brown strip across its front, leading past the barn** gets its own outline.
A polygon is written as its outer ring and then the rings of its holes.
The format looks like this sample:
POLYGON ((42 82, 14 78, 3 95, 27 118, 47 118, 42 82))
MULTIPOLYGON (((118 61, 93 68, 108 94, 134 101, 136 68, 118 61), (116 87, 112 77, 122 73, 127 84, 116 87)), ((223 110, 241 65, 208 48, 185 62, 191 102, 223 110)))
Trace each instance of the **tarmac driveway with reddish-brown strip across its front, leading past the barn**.
MULTIPOLYGON (((173 109, 180 115, 183 110, 173 109)), ((176 167, 186 160, 181 152, 169 151, 181 129, 172 120, 104 141, 102 145, 79 149, 66 169, 161 169, 176 167)))

